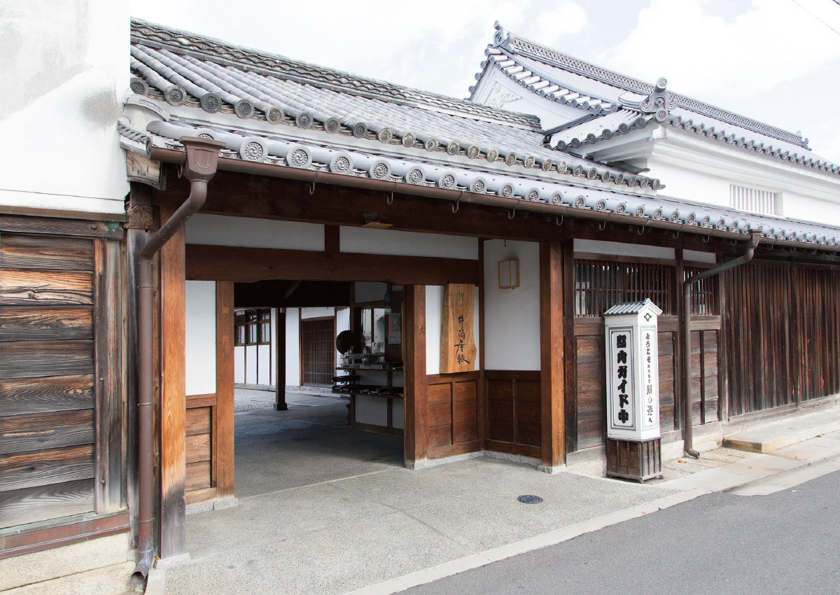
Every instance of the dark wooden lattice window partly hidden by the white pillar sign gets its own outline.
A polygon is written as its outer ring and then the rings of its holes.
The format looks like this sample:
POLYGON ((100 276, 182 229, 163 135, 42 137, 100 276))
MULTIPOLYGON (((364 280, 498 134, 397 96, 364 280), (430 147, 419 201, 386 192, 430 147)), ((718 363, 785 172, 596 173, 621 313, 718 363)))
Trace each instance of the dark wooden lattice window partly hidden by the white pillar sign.
POLYGON ((669 265, 575 259, 575 316, 601 316, 617 303, 644 298, 674 314, 673 282, 669 265))

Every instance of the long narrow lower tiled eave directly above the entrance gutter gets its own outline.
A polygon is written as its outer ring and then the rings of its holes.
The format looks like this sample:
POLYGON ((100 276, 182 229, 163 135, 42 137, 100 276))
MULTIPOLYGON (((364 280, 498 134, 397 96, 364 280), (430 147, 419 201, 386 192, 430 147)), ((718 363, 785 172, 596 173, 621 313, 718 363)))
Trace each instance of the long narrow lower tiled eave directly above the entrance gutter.
MULTIPOLYGON (((671 197, 643 192, 607 191, 590 187, 575 187, 563 178, 537 177, 543 172, 519 172, 494 169, 485 164, 475 167, 438 166, 411 158, 399 158, 374 151, 333 147, 283 137, 278 134, 249 134, 246 131, 191 124, 173 120, 154 120, 147 130, 120 123, 118 131, 129 150, 142 151, 150 146, 183 150, 178 142, 183 136, 204 136, 222 140, 223 161, 253 161, 278 168, 290 167, 310 171, 325 171, 342 176, 395 182, 402 186, 397 192, 411 193, 411 187, 438 187, 456 192, 493 195, 509 200, 511 209, 536 210, 546 216, 545 205, 557 207, 557 219, 568 215, 582 219, 597 219, 629 224, 643 229, 650 225, 676 231, 709 235, 714 232, 737 239, 759 230, 765 242, 811 249, 840 250, 840 228, 741 213, 731 208, 710 204, 690 203, 671 197), (655 222, 655 224, 653 223, 655 222)), ((376 145, 372 145, 376 146, 376 145)), ((618 187, 615 187, 618 188, 618 187)), ((552 214, 549 213, 549 218, 552 214)))

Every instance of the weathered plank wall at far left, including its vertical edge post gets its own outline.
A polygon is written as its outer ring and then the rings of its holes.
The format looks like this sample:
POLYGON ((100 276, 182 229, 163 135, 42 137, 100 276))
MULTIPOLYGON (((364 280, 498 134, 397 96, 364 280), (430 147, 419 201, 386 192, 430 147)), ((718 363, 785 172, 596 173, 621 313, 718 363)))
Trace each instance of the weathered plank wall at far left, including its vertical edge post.
POLYGON ((61 227, 0 237, 0 529, 125 503, 120 247, 61 227))

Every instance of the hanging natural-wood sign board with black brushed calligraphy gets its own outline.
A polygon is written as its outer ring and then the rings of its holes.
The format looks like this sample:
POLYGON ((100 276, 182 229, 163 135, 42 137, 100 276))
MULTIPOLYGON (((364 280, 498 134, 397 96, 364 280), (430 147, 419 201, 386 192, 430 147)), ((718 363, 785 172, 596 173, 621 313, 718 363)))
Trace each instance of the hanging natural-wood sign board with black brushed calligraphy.
POLYGON ((475 370, 475 286, 449 283, 444 290, 444 324, 440 334, 440 373, 475 370))

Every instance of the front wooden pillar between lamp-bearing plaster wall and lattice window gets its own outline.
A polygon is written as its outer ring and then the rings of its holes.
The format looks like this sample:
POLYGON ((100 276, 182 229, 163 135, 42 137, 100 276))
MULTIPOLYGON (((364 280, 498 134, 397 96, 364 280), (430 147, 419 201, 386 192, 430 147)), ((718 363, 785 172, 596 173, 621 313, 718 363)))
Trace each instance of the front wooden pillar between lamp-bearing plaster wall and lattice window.
POLYGON ((562 244, 559 240, 541 242, 539 329, 544 471, 565 462, 563 302, 562 244))

